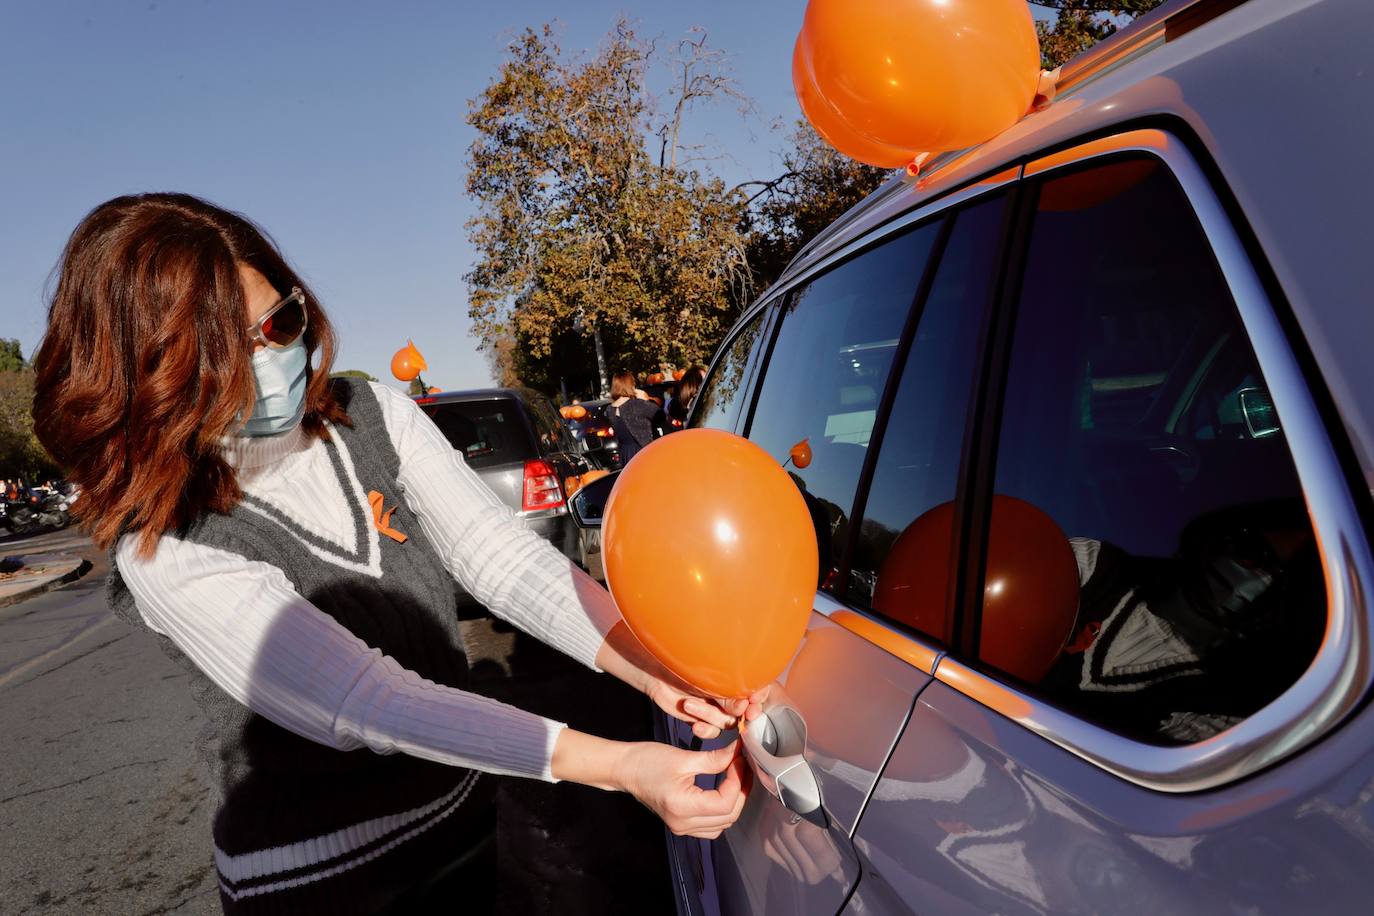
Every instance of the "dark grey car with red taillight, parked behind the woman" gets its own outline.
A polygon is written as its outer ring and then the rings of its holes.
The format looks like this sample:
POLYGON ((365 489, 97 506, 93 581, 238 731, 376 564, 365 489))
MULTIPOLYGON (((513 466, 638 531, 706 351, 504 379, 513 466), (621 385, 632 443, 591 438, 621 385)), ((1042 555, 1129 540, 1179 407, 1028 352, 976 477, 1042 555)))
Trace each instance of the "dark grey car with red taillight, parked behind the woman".
POLYGON ((594 467, 548 398, 529 389, 474 389, 415 402, 467 466, 526 523, 587 564, 587 537, 567 514, 567 478, 594 467))

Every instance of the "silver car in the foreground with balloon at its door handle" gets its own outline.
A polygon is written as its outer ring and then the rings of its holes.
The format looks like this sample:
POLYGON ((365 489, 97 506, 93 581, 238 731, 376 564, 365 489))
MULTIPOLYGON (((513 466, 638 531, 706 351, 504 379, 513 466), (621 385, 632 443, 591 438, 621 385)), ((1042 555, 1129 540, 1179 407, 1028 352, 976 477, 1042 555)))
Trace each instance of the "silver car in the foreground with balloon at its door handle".
POLYGON ((820 588, 682 913, 1369 911, 1371 34, 1175 0, 742 316, 688 426, 809 441, 820 588))

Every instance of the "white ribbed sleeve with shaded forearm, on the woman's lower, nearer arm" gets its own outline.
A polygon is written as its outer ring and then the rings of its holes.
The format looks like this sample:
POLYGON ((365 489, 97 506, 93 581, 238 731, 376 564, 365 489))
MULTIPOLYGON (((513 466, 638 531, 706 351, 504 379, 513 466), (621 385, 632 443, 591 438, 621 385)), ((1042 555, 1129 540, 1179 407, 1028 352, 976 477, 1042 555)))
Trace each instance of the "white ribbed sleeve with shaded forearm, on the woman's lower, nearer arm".
POLYGON ((370 648, 276 567, 165 536, 153 559, 124 538, 115 562, 148 626, 229 696, 313 742, 403 751, 552 780, 563 728, 434 684, 370 648))

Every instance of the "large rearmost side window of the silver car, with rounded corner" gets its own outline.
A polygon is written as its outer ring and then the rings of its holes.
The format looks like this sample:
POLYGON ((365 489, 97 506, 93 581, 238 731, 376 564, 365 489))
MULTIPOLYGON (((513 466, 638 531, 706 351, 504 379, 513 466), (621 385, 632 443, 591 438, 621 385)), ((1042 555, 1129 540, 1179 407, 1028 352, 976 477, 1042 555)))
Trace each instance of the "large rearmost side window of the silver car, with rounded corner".
POLYGON ((984 665, 1160 744, 1224 731, 1307 667, 1326 595, 1297 474, 1158 161, 1039 187, 998 442, 984 665))

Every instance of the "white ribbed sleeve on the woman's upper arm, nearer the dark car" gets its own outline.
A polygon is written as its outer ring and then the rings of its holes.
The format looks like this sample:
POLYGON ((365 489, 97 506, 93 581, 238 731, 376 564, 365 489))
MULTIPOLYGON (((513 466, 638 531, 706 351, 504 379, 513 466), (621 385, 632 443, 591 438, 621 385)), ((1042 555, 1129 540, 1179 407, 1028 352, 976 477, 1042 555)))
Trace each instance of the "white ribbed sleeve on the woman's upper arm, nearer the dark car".
POLYGON ((453 577, 502 619, 595 667, 620 621, 606 589, 503 505, 412 400, 372 390, 401 457, 405 503, 453 577))

